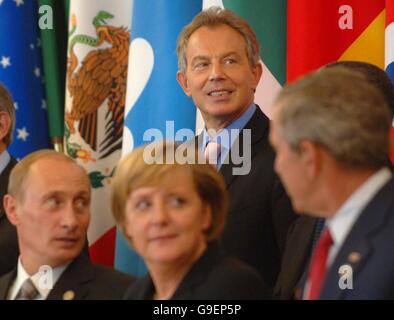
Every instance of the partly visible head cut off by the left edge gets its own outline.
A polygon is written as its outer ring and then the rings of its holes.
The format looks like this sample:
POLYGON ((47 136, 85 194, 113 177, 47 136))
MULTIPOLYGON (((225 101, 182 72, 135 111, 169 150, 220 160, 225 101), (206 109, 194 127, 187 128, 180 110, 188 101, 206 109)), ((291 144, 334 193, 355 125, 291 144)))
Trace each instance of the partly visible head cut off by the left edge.
POLYGON ((14 101, 9 91, 0 84, 0 152, 3 152, 10 145, 14 127, 14 101))

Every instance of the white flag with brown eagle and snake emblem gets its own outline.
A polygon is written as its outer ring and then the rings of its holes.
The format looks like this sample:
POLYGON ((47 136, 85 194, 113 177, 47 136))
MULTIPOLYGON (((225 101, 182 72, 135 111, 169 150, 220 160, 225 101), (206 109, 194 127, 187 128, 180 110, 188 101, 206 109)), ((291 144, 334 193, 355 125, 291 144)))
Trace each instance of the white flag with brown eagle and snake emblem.
POLYGON ((131 13, 130 0, 70 3, 65 149, 86 168, 93 188, 90 255, 110 266, 109 185, 121 155, 131 13))

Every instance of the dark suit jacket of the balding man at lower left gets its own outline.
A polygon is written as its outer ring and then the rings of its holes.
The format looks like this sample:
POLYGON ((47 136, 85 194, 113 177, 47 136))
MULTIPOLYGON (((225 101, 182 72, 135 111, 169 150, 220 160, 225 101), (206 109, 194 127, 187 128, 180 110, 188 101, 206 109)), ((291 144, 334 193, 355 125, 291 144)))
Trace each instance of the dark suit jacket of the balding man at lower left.
MULTIPOLYGON (((0 278, 0 299, 6 299, 16 277, 16 268, 0 278)), ((49 293, 47 300, 62 300, 67 291, 74 293, 74 300, 117 300, 134 280, 124 273, 94 265, 82 253, 63 272, 49 293)))

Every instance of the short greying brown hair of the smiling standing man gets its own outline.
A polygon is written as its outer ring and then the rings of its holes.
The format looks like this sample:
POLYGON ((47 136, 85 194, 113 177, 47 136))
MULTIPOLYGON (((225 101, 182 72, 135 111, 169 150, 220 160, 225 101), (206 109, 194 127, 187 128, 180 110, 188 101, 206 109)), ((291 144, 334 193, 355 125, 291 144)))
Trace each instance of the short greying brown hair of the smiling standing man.
POLYGON ((221 25, 227 25, 239 32, 245 39, 246 54, 248 56, 249 64, 254 67, 260 61, 260 45, 256 34, 250 25, 235 13, 228 9, 220 7, 210 7, 198 15, 193 21, 185 26, 179 34, 177 41, 176 52, 178 55, 178 69, 185 73, 187 67, 186 48, 192 34, 201 27, 214 28, 221 25))

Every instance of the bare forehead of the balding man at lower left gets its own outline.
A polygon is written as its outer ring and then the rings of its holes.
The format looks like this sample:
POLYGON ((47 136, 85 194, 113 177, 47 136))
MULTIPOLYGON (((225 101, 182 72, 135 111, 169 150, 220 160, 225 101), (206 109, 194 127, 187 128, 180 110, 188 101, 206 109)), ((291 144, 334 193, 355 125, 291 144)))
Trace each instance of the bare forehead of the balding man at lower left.
POLYGON ((28 171, 24 186, 89 189, 89 180, 84 170, 77 164, 58 158, 40 159, 34 162, 28 171))

